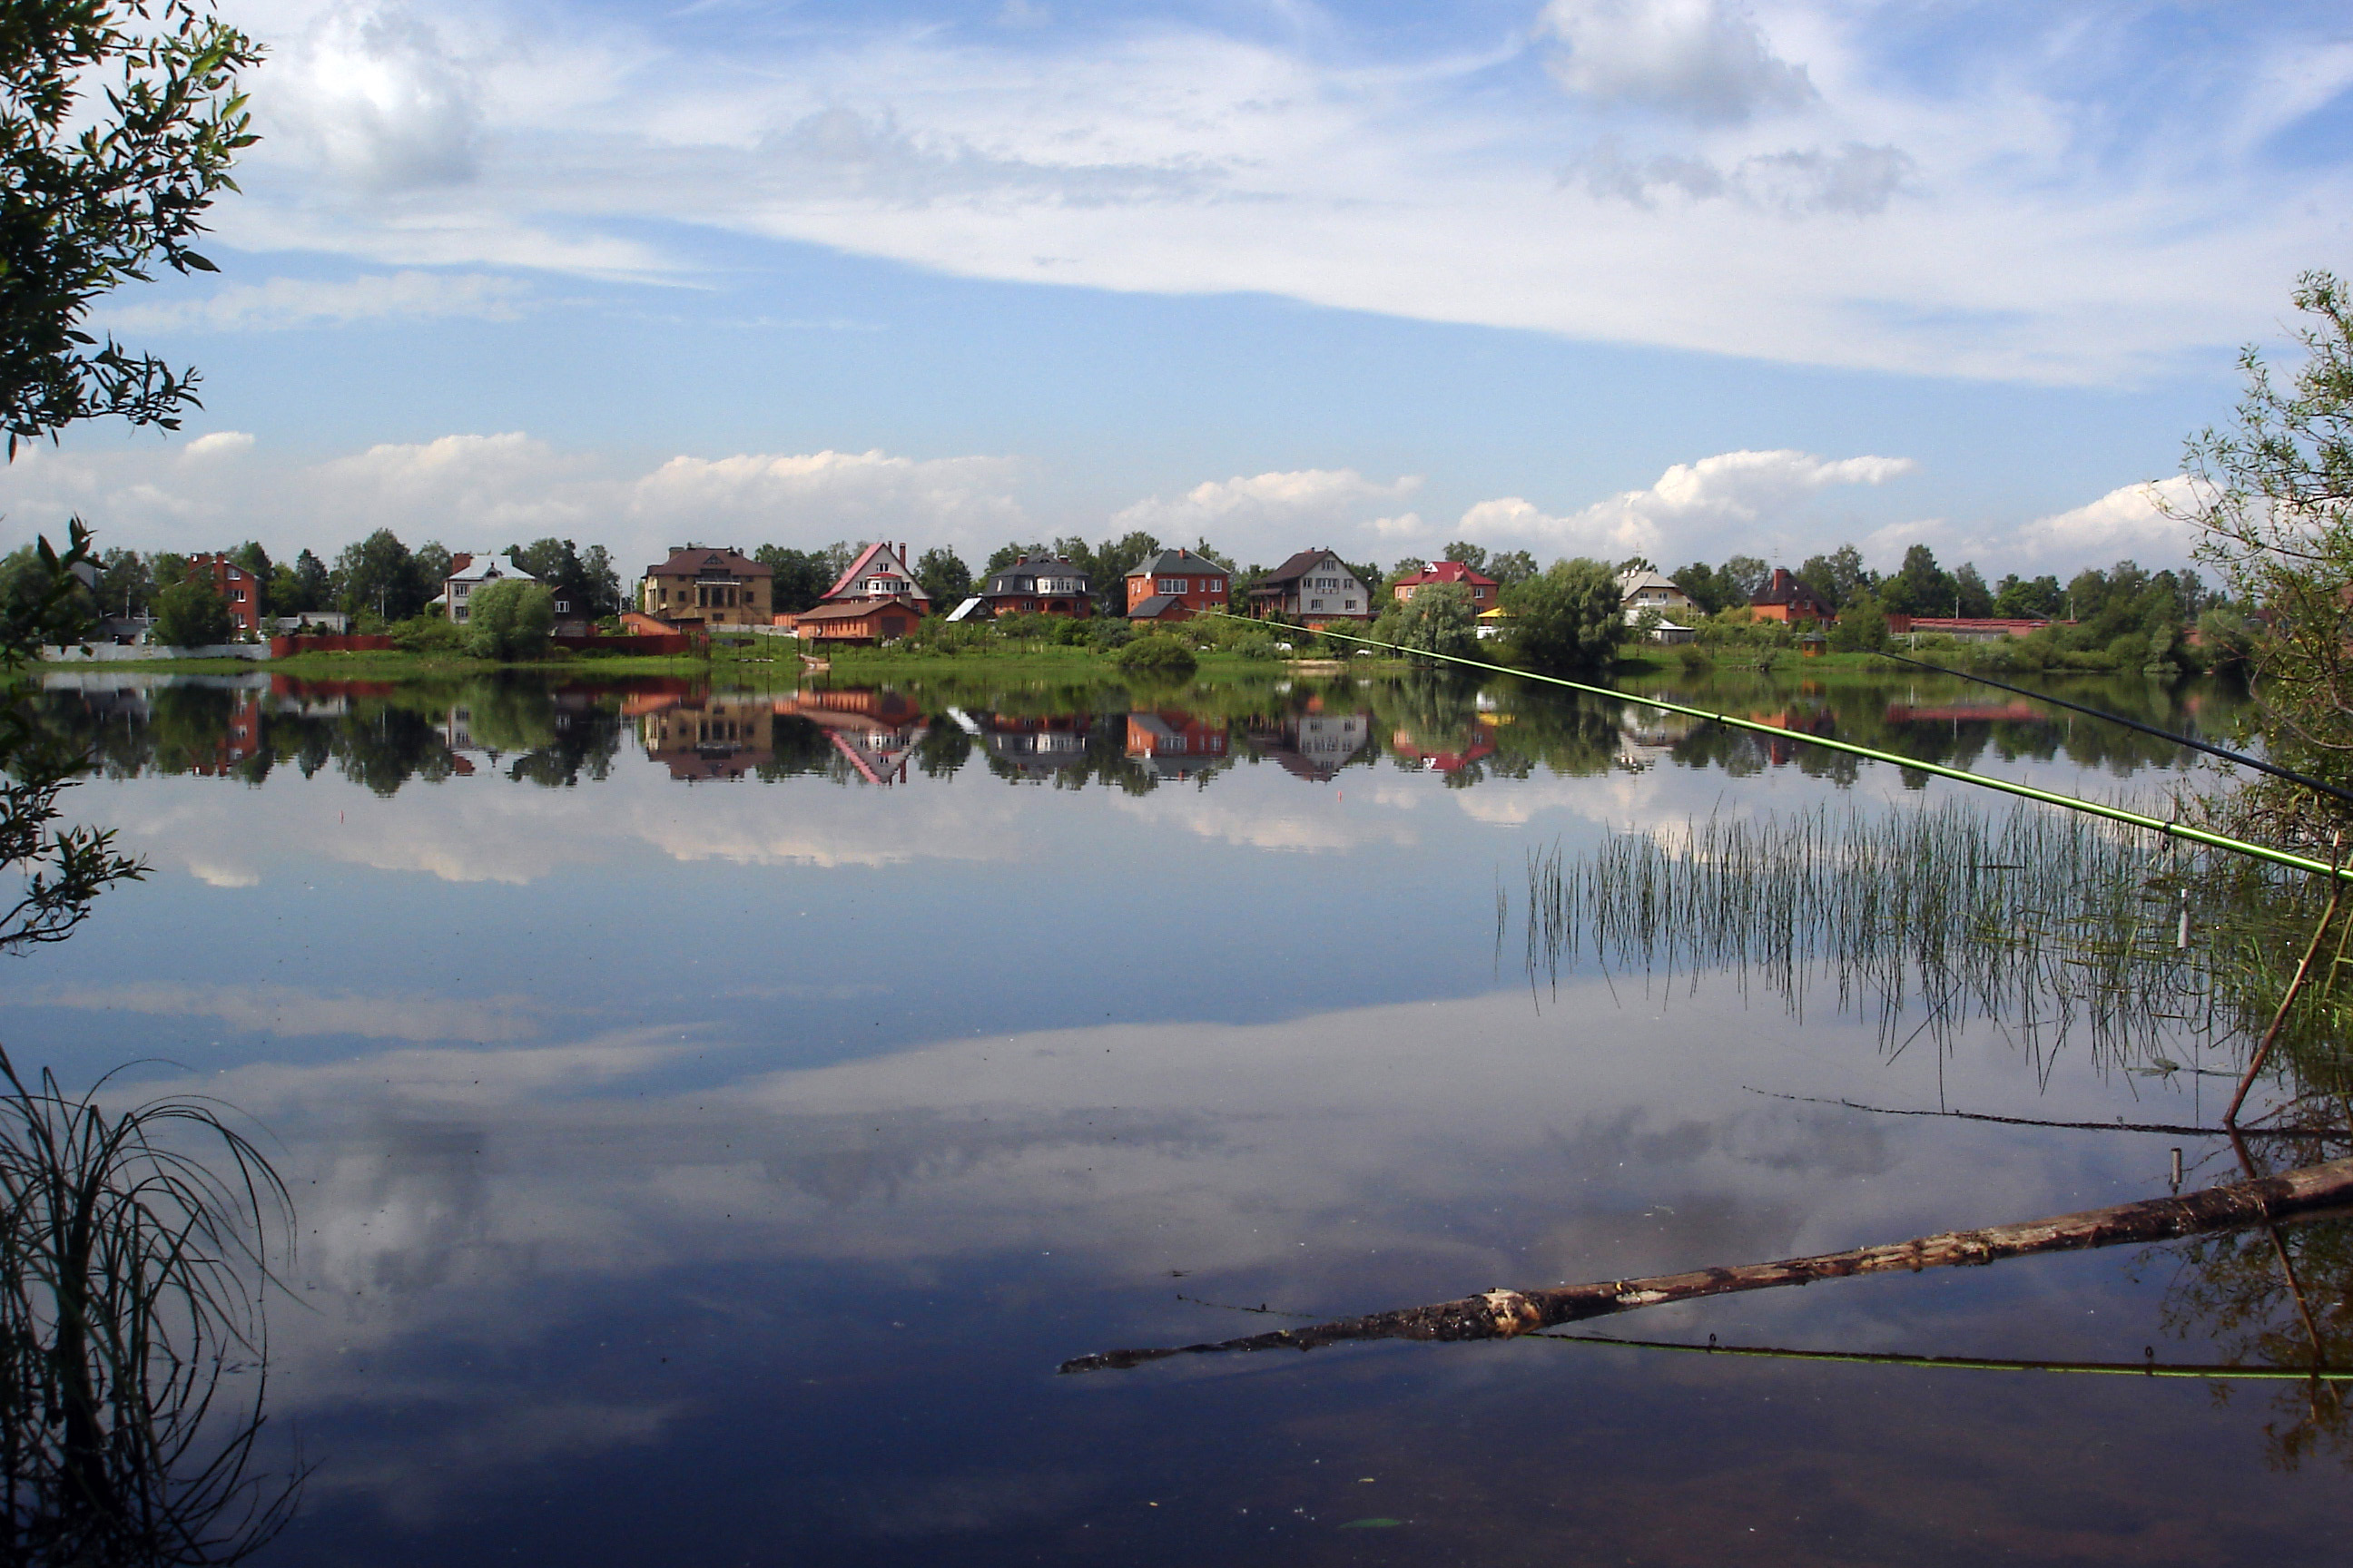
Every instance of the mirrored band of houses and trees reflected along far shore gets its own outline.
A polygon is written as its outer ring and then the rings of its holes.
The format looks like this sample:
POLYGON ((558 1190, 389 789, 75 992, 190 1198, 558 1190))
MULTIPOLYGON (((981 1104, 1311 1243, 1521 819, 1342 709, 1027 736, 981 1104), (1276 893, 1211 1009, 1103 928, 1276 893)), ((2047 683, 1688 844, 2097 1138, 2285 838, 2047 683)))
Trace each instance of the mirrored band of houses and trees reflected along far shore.
MULTIPOLYGON (((1715 703, 1788 738, 1727 731, 1638 701, 1562 696, 1511 679, 1452 675, 1294 682, 1195 682, 1176 693, 1118 684, 1005 686, 911 679, 904 686, 727 689, 708 679, 304 682, 282 675, 132 677, 96 670, 45 679, 40 719, 87 745, 101 769, 261 783, 278 766, 336 769, 391 795, 405 783, 471 776, 485 764, 518 783, 602 778, 628 741, 680 783, 826 776, 842 785, 953 778, 974 752, 1007 783, 1144 795, 1207 785, 1226 764, 1275 764, 1306 783, 1393 759, 1449 788, 1494 778, 1612 769, 1798 769, 1852 783, 1861 764, 1800 743, 1840 736, 1979 766, 2064 759, 2129 773, 2195 757, 2167 741, 2038 708, 1984 701, 1955 682, 1769 682, 1722 672, 1704 686, 1642 684, 1671 701, 1715 703), (1941 689, 1939 689, 1941 686, 1941 689)), ((2191 731, 2226 731, 2238 712, 2217 686, 2148 682, 2101 703, 2191 731)), ((1908 778, 1913 788, 1922 780, 1908 778)))

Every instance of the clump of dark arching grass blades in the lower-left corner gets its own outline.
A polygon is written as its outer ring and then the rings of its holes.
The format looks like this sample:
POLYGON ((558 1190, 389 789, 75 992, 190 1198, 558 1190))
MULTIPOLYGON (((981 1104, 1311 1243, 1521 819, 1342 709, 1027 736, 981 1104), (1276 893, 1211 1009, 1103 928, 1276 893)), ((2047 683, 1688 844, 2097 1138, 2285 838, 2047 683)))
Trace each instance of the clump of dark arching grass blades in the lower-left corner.
POLYGON ((301 1488, 256 1465, 285 1185, 205 1100, 0 1081, 0 1561, 249 1556, 301 1488))

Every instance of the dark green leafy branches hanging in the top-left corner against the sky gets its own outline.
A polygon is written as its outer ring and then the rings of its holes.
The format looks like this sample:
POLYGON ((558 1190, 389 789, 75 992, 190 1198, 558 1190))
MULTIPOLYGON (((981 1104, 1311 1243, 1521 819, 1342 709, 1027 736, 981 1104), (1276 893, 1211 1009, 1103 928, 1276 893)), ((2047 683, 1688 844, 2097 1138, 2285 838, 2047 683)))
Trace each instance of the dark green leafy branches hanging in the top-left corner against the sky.
POLYGON ((0 418, 7 449, 85 418, 179 428, 198 376, 82 331, 92 301, 191 249, 252 146, 261 49, 198 0, 16 0, 0 26, 0 418))

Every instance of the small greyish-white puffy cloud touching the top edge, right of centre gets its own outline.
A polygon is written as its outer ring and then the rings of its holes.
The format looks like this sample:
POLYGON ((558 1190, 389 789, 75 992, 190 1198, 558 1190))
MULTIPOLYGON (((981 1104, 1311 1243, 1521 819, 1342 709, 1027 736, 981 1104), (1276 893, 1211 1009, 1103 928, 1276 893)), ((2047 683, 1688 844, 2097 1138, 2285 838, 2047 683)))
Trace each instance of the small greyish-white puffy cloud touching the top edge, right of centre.
POLYGON ((1605 103, 1748 120, 1814 99, 1805 66, 1732 0, 1551 0, 1537 31, 1567 45, 1548 61, 1560 85, 1605 103))

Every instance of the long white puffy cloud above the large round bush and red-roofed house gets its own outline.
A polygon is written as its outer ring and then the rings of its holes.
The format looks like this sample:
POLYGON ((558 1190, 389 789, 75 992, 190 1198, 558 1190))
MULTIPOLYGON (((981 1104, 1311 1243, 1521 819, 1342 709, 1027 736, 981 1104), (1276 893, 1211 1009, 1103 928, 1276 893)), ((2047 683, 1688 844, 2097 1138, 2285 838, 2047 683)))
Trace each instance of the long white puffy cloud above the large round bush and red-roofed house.
POLYGON ((1819 458, 1812 451, 1722 451, 1675 463, 1657 484, 1555 517, 1520 496, 1480 501, 1457 524, 1466 538, 1544 545, 1560 552, 1654 555, 1671 534, 1777 522, 1835 484, 1885 484, 1913 473, 1911 458, 1819 458))

